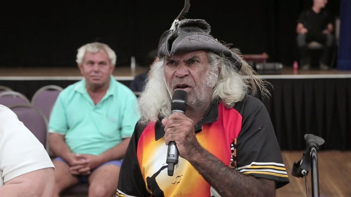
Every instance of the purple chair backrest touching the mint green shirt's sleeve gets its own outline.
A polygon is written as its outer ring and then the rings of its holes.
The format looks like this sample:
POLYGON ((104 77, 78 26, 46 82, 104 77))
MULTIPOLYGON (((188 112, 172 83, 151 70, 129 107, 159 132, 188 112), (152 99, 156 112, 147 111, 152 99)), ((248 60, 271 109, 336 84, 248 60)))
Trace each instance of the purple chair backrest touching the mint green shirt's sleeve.
POLYGON ((51 109, 62 90, 61 87, 55 85, 44 86, 34 93, 31 103, 41 109, 49 119, 51 109))

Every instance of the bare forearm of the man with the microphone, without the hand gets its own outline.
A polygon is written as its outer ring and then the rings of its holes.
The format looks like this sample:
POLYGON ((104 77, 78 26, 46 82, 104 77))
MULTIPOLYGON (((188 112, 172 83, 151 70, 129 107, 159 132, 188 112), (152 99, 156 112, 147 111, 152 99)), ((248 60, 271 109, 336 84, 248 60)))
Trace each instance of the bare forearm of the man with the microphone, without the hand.
POLYGON ((219 161, 197 143, 194 150, 188 151, 187 160, 196 168, 221 197, 275 196, 275 181, 256 179, 242 175, 219 161))

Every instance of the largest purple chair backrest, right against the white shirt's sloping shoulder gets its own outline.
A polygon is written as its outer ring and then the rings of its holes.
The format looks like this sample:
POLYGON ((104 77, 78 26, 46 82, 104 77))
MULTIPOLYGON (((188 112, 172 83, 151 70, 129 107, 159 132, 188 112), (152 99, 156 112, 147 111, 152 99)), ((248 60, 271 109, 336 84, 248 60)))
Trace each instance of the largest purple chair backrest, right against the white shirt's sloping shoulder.
POLYGON ((48 151, 48 121, 45 114, 30 104, 13 105, 9 107, 15 112, 19 120, 38 138, 48 151))

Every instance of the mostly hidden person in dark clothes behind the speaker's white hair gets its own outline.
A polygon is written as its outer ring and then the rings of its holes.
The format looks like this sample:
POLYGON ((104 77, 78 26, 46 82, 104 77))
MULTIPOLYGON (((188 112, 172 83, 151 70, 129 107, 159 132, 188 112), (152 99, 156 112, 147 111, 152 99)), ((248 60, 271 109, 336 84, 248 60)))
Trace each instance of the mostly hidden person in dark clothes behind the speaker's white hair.
POLYGON ((146 55, 146 65, 148 66, 147 71, 138 74, 134 77, 134 80, 131 81, 129 88, 135 92, 137 95, 144 89, 145 86, 145 81, 147 78, 147 75, 150 71, 150 67, 156 62, 158 61, 157 58, 157 50, 152 50, 150 51, 147 55, 146 55))

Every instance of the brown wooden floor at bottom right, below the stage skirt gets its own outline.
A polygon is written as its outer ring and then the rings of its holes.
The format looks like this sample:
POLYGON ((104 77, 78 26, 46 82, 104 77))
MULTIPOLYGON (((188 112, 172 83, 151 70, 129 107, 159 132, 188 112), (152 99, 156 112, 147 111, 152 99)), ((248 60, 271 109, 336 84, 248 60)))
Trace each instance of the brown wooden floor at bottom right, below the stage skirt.
MULTIPOLYGON (((282 151, 290 183, 276 190, 277 197, 306 197, 305 179, 291 175, 294 161, 299 161, 302 154, 303 151, 282 151)), ((320 197, 351 197, 351 151, 318 152, 318 170, 320 197)), ((307 180, 312 197, 311 172, 307 180)))

